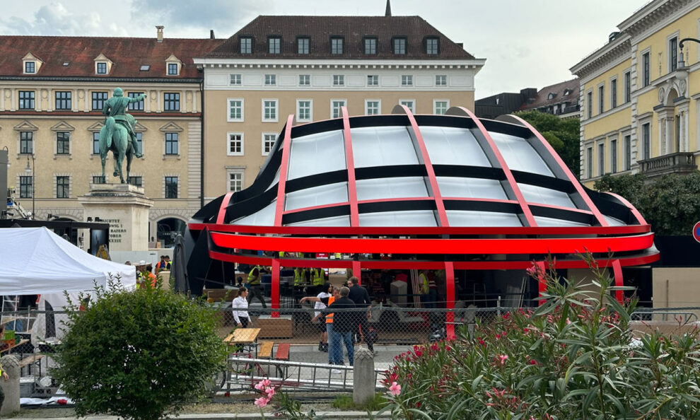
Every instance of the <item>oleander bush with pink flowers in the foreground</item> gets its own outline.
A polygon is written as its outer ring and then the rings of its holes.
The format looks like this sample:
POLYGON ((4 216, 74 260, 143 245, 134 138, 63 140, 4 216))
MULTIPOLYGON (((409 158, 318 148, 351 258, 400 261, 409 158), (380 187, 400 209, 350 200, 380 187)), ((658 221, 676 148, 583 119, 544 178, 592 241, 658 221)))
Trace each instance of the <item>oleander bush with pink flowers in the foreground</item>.
MULTIPOLYGON (((589 264, 593 264, 588 258, 589 264)), ((546 301, 477 325, 470 336, 414 346, 385 373, 392 411, 407 419, 698 419, 698 330, 631 337, 634 301, 618 303, 556 274, 546 301), (400 390, 399 387, 400 386, 400 390)))

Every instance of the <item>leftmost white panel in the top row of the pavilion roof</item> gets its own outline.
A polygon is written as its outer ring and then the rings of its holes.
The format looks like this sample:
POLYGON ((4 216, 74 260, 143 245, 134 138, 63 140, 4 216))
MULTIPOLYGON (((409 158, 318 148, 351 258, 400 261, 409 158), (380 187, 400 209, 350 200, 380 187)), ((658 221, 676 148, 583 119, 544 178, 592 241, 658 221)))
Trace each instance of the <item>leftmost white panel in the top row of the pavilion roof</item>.
POLYGON ((292 139, 288 180, 346 169, 342 130, 292 139))

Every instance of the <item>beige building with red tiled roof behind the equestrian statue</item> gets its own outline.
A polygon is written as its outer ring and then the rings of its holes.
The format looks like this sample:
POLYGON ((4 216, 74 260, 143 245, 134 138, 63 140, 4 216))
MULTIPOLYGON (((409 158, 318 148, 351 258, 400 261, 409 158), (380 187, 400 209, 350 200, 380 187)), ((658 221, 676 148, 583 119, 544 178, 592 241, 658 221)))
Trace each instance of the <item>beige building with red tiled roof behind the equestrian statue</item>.
POLYGON ((164 38, 162 27, 153 38, 0 37, 0 148, 21 205, 36 218, 82 221, 78 196, 119 182, 111 156, 101 177, 103 103, 117 87, 146 93, 129 105, 144 152, 129 182, 155 202, 149 236, 167 245, 201 206, 202 72, 192 57, 218 42, 164 38))

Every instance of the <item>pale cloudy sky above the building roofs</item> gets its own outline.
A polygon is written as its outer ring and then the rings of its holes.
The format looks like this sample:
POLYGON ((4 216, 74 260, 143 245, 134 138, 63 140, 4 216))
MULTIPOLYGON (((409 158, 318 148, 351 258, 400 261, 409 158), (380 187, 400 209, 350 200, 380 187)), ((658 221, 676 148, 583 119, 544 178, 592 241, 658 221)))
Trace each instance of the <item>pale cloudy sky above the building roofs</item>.
MULTIPOLYGON (((5 35, 229 37, 259 14, 383 15, 385 0, 2 0, 5 35)), ((419 15, 486 65, 477 98, 572 78, 573 64, 601 47, 647 0, 392 0, 395 16, 419 15)))

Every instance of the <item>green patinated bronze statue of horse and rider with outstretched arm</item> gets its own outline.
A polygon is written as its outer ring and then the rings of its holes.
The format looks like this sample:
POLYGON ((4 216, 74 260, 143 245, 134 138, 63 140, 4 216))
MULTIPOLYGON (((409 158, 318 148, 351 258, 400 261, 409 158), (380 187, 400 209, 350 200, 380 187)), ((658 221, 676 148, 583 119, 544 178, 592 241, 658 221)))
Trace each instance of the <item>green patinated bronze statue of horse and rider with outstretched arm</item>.
POLYGON ((105 125, 100 129, 100 158, 102 159, 102 177, 105 182, 107 180, 105 160, 109 151, 112 151, 112 156, 115 159, 115 172, 112 176, 118 176, 122 184, 129 180, 133 156, 137 158, 144 156, 139 151, 139 144, 136 142, 136 134, 134 133, 136 119, 133 115, 127 114, 127 107, 130 103, 140 102, 144 98, 146 95, 143 93, 136 98, 124 97, 122 88, 115 88, 112 98, 105 101, 102 113, 107 115, 107 118, 105 118, 105 125), (124 157, 127 158, 126 181, 122 173, 124 157))

